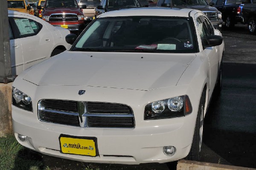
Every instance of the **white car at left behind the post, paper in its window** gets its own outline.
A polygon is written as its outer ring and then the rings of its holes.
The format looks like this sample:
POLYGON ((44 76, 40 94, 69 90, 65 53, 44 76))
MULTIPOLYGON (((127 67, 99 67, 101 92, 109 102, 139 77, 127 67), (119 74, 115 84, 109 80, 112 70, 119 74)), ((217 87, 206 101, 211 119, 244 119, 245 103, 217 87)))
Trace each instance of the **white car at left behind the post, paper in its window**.
POLYGON ((67 29, 57 28, 30 14, 8 11, 12 75, 70 49, 67 29))

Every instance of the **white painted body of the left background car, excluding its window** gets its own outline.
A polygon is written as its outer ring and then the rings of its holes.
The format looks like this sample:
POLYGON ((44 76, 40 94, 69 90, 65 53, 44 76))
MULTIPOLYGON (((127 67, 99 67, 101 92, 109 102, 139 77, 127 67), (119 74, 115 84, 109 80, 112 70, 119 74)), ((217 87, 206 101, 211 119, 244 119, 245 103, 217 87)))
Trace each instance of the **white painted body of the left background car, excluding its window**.
POLYGON ((70 44, 65 41, 65 36, 70 34, 68 30, 56 28, 30 14, 8 11, 8 16, 27 18, 42 24, 42 29, 36 35, 10 38, 13 75, 19 75, 30 66, 50 58, 52 51, 59 46, 70 49, 70 44))

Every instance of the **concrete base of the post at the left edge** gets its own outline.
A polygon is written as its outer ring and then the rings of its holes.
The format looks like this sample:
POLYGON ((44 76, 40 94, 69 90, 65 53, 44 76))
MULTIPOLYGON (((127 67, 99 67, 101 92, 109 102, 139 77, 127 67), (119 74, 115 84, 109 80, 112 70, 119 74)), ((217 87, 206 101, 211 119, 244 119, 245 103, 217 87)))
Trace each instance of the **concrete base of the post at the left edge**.
POLYGON ((12 83, 0 83, 0 137, 12 130, 12 83))

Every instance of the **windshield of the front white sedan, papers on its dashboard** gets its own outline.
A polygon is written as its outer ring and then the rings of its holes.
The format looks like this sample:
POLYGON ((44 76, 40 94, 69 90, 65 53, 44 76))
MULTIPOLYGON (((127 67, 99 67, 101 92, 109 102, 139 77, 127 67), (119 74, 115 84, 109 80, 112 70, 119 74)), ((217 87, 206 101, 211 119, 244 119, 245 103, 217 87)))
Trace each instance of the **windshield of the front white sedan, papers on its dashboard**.
POLYGON ((97 19, 72 51, 195 52, 186 17, 114 17, 97 19))

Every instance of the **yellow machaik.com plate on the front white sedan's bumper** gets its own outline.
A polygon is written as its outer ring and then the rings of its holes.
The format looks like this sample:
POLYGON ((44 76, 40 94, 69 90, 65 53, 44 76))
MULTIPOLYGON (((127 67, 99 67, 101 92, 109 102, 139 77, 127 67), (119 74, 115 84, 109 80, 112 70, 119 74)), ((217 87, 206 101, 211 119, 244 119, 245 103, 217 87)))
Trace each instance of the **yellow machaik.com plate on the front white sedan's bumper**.
POLYGON ((61 152, 67 154, 97 156, 96 138, 61 135, 59 137, 61 152))

